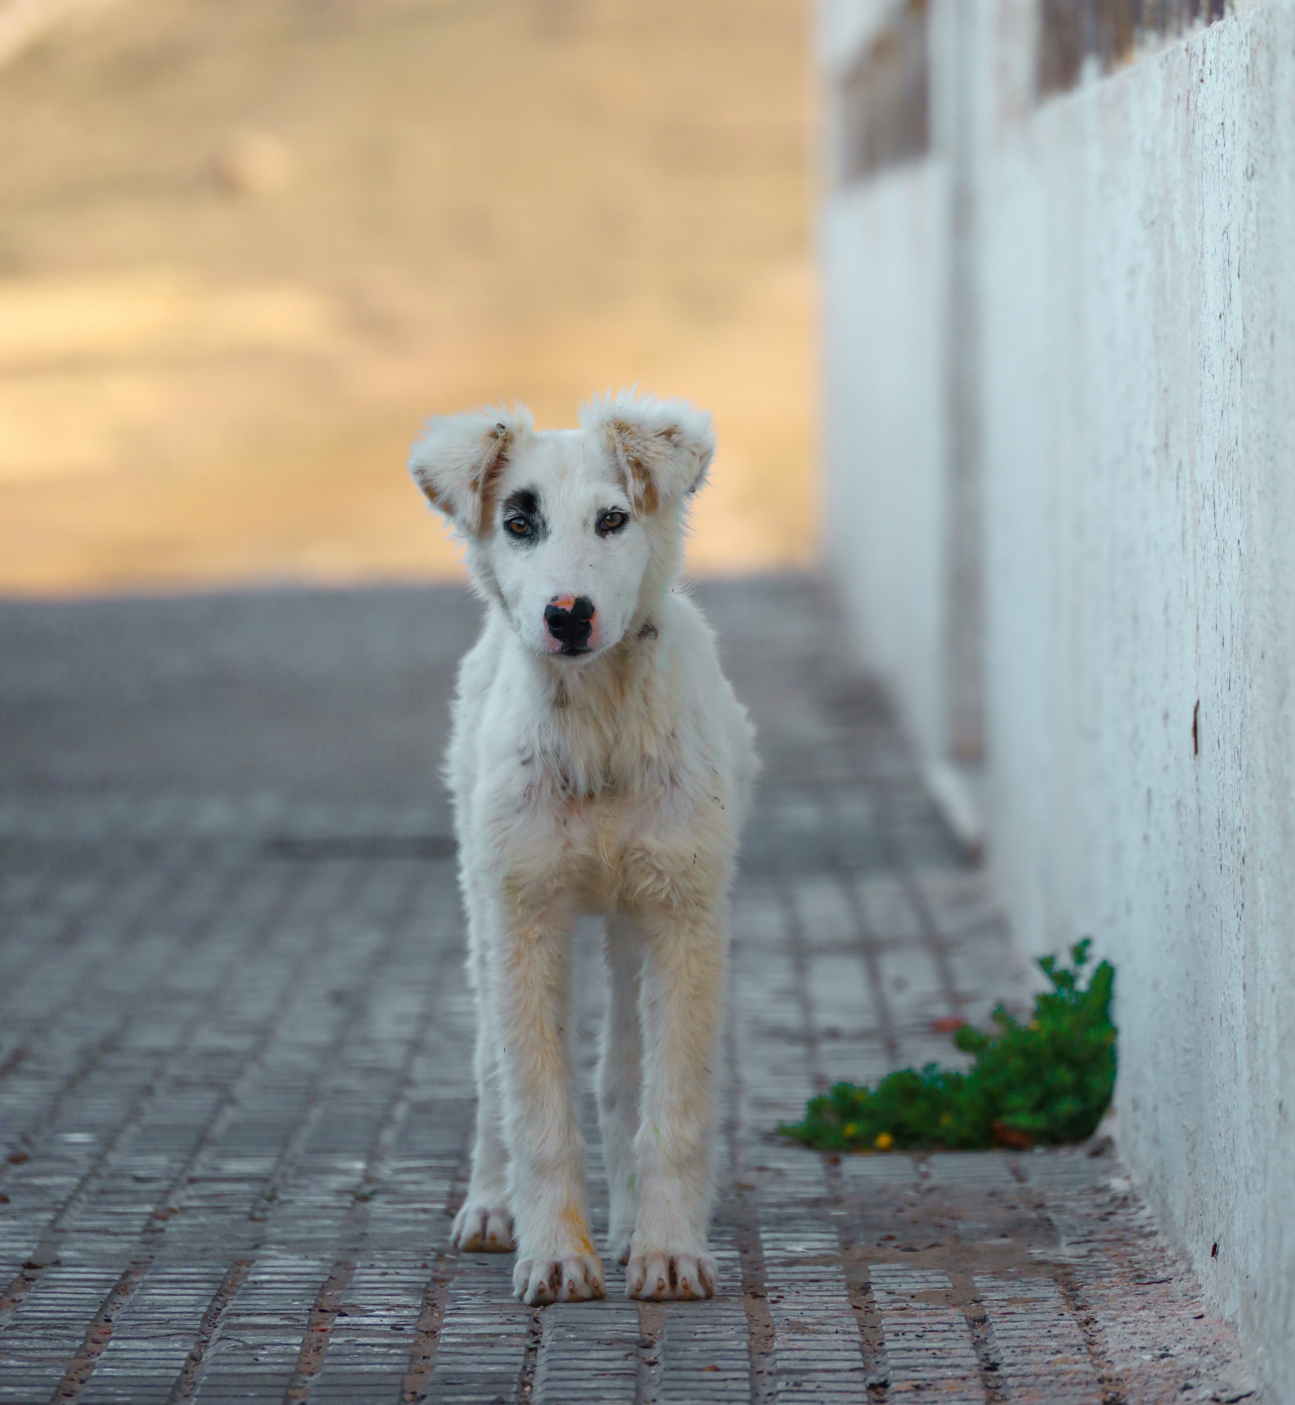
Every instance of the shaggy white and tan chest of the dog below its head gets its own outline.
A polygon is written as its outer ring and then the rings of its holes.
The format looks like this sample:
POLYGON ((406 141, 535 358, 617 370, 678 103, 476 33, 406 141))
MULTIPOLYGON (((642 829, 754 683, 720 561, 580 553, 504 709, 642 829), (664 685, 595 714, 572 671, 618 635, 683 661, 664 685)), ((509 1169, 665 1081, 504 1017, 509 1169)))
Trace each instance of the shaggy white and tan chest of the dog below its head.
POLYGON ((488 753, 475 784, 456 788, 512 882, 560 884, 591 909, 647 894, 675 905, 724 884, 731 766, 686 686, 697 669, 688 624, 636 629, 581 673, 537 669, 496 636, 479 691, 470 659, 457 731, 488 753))

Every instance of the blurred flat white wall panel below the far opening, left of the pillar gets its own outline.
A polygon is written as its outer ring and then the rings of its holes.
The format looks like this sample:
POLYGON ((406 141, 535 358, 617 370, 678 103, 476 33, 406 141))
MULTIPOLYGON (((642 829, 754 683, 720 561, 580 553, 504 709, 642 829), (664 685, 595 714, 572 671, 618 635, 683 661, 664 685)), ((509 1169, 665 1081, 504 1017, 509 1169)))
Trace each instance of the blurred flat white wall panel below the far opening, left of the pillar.
POLYGON ((823 215, 824 544, 855 646, 931 753, 945 732, 948 181, 934 159, 838 192, 823 215))

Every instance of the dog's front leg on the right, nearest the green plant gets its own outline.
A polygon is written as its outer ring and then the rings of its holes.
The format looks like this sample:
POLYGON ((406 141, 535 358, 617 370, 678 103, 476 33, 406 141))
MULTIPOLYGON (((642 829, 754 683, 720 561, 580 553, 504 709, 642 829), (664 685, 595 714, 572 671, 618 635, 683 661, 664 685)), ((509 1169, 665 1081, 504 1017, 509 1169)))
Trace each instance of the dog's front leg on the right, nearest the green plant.
POLYGON ((640 1200, 626 1291, 631 1298, 709 1298, 716 1286, 707 1229, 724 915, 690 908, 644 926, 640 1200))

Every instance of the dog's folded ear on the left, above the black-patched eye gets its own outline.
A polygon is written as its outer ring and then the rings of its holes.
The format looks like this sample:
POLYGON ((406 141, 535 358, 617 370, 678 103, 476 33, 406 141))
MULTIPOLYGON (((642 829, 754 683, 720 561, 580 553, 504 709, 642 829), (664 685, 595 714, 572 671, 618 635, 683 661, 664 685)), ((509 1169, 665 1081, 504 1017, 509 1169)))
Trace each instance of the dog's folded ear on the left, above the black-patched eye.
POLYGON ((524 405, 439 414, 413 445, 409 472, 437 511, 475 537, 489 525, 495 483, 509 454, 531 433, 534 420, 524 405))

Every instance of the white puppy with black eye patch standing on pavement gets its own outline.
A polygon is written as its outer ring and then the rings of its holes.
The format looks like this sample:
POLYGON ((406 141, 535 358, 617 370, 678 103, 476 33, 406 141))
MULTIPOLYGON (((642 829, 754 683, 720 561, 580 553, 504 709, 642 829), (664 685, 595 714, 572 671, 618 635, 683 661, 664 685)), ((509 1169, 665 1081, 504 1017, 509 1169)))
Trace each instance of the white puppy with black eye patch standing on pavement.
POLYGON ((447 774, 477 992, 477 1141, 454 1242, 523 1302, 603 1295, 572 1089, 571 933, 606 915, 607 1252, 636 1298, 714 1293, 707 1249, 727 905, 758 762, 676 580, 710 416, 633 392, 537 433, 434 419, 411 472, 487 601, 447 774))

